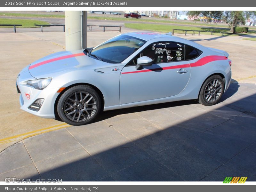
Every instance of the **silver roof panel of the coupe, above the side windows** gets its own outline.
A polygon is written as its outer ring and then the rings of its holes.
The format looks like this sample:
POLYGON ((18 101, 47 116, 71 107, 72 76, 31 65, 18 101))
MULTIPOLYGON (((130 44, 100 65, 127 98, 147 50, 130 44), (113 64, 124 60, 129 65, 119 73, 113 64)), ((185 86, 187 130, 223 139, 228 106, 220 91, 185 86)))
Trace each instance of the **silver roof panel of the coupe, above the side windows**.
POLYGON ((175 37, 172 35, 167 35, 167 34, 161 34, 161 33, 155 33, 155 32, 148 32, 148 31, 142 31, 142 32, 132 32, 132 33, 125 33, 125 35, 133 36, 145 41, 149 41, 151 39, 156 39, 156 38, 170 38, 172 41, 179 41, 179 37, 175 37))

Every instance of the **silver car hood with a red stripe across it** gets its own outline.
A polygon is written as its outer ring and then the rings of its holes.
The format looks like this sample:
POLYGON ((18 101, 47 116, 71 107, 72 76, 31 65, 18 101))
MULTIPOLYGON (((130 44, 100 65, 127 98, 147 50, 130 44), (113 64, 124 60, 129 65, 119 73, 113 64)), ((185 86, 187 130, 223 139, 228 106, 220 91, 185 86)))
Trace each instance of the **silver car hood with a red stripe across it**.
POLYGON ((81 67, 95 65, 97 61, 85 55, 83 50, 57 52, 31 63, 28 70, 35 78, 47 78, 81 67))

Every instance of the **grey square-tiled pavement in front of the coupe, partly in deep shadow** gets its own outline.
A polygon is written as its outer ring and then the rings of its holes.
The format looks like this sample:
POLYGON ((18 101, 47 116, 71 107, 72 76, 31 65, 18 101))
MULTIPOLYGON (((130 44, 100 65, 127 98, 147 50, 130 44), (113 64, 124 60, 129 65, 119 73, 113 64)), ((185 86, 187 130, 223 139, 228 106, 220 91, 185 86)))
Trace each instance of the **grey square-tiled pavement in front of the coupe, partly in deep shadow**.
POLYGON ((256 181, 256 85, 222 101, 104 112, 99 121, 40 134, 0 153, 0 181, 256 181))

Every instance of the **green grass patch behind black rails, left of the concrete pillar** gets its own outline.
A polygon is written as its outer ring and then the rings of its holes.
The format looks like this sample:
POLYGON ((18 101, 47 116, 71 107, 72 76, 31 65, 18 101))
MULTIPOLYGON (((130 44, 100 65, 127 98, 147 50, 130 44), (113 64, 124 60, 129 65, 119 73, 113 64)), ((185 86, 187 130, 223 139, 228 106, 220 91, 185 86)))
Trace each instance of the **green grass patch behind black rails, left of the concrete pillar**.
MULTIPOLYGON (((32 28, 35 25, 49 25, 48 22, 28 19, 5 19, 0 18, 0 24, 22 25, 16 28, 32 28)), ((13 28, 12 26, 0 26, 0 28, 13 28)))

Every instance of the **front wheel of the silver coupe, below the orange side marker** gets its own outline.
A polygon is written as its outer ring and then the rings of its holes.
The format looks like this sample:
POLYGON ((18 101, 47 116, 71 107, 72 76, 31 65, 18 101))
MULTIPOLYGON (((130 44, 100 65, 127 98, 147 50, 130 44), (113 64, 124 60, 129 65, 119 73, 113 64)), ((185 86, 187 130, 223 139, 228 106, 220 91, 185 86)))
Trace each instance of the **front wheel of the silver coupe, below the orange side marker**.
POLYGON ((67 124, 78 126, 91 123, 99 114, 101 99, 88 85, 76 85, 66 90, 60 97, 57 111, 67 124))

